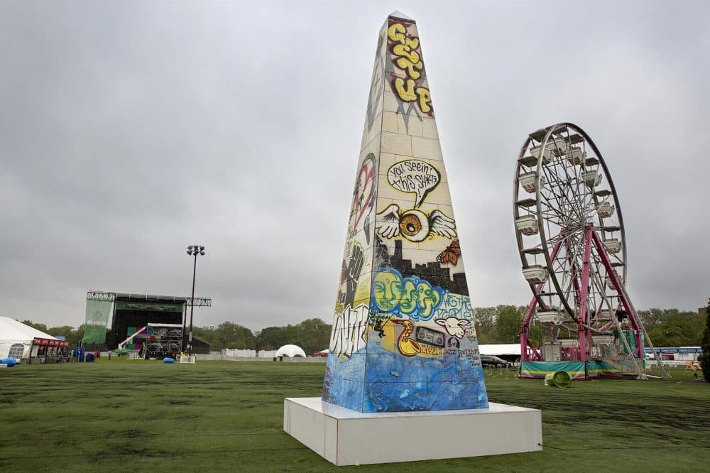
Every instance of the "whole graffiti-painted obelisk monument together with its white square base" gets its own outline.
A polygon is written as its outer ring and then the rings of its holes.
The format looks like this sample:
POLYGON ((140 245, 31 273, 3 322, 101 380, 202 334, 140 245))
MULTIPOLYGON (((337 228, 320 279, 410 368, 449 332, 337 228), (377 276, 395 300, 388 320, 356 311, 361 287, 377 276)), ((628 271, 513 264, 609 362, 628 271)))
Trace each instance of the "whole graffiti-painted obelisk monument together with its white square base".
POLYGON ((283 430, 333 464, 542 449, 540 411, 488 403, 417 24, 398 11, 378 37, 329 351, 322 397, 285 398, 283 430))

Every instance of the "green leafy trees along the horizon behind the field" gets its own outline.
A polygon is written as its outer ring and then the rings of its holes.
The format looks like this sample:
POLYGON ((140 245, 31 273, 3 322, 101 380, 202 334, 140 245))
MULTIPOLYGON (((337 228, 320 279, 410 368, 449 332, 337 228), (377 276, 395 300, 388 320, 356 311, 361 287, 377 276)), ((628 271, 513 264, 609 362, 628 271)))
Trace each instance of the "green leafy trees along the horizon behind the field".
MULTIPOLYGON (((476 332, 479 344, 519 343, 520 325, 525 307, 497 305, 475 308, 476 332)), ((705 314, 678 309, 649 309, 638 311, 643 325, 655 347, 697 347, 701 345, 707 323, 705 314)), ((84 337, 84 325, 47 327, 45 324, 23 320, 23 324, 55 337, 65 337, 72 346, 84 337)), ((329 346, 331 326, 319 318, 304 320, 295 325, 266 327, 252 331, 234 322, 222 322, 217 327, 194 327, 195 337, 211 345, 213 351, 224 348, 274 350, 285 344, 295 344, 307 354, 320 352, 329 346)), ((542 344, 542 327, 530 327, 530 342, 542 344)))

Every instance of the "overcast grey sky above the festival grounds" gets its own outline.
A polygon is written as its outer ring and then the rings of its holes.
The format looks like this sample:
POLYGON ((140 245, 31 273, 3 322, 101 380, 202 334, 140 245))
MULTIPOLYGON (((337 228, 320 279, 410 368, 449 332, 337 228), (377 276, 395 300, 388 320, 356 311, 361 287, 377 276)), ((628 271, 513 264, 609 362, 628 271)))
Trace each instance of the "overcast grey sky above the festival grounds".
POLYGON ((528 133, 599 147, 637 309, 710 296, 706 1, 0 2, 0 315, 190 295, 195 325, 332 322, 377 33, 415 18, 471 303, 525 305, 528 133))

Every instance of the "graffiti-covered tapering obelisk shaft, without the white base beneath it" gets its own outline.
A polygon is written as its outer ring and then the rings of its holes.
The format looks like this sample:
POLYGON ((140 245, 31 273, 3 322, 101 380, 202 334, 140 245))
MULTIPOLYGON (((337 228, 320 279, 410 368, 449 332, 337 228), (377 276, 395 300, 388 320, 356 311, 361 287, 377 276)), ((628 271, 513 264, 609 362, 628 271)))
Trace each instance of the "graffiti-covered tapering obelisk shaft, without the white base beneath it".
POLYGON ((322 399, 488 407, 417 25, 399 12, 378 37, 322 399))

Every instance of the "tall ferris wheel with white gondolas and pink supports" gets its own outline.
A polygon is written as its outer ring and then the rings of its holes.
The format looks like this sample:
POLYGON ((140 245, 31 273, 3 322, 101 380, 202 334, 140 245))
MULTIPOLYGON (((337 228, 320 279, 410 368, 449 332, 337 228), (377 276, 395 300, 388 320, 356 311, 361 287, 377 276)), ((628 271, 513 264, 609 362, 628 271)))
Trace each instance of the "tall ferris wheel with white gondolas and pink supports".
POLYGON ((626 292, 621 206, 599 149, 579 126, 555 124, 528 135, 515 166, 513 214, 532 290, 520 331, 522 360, 616 357, 640 374, 650 340, 626 292), (529 342, 533 324, 542 325, 541 348, 529 342))

